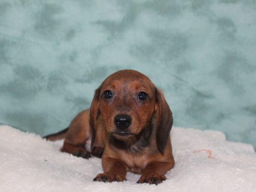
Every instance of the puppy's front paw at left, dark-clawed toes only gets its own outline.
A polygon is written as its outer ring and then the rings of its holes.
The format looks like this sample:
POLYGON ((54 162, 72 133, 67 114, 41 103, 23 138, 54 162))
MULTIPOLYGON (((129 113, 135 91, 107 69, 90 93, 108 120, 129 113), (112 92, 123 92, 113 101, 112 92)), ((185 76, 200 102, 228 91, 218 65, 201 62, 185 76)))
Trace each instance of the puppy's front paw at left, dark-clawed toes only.
POLYGON ((105 172, 105 173, 100 173, 98 174, 93 181, 102 181, 104 183, 106 182, 113 182, 113 181, 124 181, 126 180, 124 175, 120 175, 118 173, 114 173, 114 172, 105 172))

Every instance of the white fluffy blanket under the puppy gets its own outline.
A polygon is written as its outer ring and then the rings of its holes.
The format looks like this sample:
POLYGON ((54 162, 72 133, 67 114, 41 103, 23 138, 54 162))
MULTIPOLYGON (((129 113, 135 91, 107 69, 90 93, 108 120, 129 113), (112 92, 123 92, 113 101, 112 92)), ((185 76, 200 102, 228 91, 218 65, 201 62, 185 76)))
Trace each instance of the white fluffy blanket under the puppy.
POLYGON ((256 154, 251 145, 225 140, 218 131, 173 128, 175 168, 155 186, 137 184, 128 173, 121 183, 94 182, 101 159, 85 160, 59 151, 61 142, 0 126, 1 192, 79 191, 256 191, 256 154))

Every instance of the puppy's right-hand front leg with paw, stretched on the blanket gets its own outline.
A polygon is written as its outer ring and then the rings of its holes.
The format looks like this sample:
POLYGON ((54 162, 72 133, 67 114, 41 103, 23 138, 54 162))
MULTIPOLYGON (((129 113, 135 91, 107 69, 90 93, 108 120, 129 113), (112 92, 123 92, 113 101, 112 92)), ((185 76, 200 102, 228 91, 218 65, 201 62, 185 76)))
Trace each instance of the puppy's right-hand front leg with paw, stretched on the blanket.
POLYGON ((172 169, 174 166, 173 163, 166 162, 151 162, 149 163, 142 172, 140 179, 137 183, 149 183, 149 184, 158 184, 162 183, 163 180, 166 180, 166 172, 172 169))

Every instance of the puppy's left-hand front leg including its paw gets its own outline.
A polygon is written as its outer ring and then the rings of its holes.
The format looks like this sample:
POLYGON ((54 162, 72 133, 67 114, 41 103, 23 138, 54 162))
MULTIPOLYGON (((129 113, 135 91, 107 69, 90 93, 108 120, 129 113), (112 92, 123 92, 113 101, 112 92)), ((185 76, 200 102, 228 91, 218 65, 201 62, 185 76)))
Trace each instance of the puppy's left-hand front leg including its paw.
POLYGON ((110 157, 102 158, 104 173, 98 174, 93 180, 103 182, 124 181, 126 176, 126 166, 121 160, 110 157))

